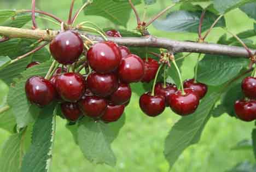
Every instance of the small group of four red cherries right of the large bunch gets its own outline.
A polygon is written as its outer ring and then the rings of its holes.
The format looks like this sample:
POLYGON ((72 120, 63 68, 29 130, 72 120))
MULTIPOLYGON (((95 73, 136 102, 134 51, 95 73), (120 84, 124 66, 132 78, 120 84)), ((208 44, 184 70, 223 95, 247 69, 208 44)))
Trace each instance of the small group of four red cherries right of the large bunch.
POLYGON ((183 84, 184 93, 174 84, 158 82, 155 85, 154 94, 144 93, 139 99, 142 111, 148 116, 158 116, 166 106, 178 115, 193 114, 199 105, 199 101, 207 92, 205 84, 195 82, 194 79, 186 80, 183 84))

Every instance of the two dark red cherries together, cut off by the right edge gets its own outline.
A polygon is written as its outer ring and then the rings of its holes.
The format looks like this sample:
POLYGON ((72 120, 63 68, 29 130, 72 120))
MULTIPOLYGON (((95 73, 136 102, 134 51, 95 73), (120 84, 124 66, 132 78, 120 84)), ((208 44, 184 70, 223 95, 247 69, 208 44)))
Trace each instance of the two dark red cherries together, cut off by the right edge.
POLYGON ((256 78, 246 77, 241 87, 246 98, 235 102, 236 115, 243 121, 256 120, 256 78))

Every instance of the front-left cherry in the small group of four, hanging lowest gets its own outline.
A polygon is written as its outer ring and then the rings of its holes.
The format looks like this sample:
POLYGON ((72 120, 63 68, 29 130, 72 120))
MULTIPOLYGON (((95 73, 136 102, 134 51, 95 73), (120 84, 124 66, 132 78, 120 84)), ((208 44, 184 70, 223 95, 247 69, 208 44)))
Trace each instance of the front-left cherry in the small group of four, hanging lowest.
POLYGON ((150 92, 142 94, 139 98, 141 110, 148 116, 155 117, 165 110, 165 97, 152 96, 150 92))

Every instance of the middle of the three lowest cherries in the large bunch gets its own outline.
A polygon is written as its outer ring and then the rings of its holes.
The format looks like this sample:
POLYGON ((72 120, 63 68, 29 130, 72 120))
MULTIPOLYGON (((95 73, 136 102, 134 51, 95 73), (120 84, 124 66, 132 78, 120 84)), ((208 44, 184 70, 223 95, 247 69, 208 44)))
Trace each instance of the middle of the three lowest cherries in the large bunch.
POLYGON ((92 118, 98 118, 103 115, 107 108, 107 100, 97 96, 84 96, 79 101, 80 109, 84 115, 92 118))

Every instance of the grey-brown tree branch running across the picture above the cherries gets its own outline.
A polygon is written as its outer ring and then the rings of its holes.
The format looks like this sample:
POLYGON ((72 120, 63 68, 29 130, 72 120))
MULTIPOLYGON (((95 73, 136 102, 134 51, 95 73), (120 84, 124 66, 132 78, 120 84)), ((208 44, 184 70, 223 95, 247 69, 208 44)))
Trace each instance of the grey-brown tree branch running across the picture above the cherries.
MULTIPOLYGON (((49 30, 32 30, 13 27, 0 26, 0 35, 8 38, 30 38, 30 39, 44 39, 50 41, 58 34, 58 31, 49 30)), ((94 41, 103 41, 104 39, 97 35, 86 34, 86 37, 94 41)), ((117 44, 133 47, 152 47, 152 48, 164 48, 172 52, 196 52, 202 54, 213 55, 226 55, 231 57, 249 57, 248 52, 238 46, 229 46, 221 44, 202 44, 194 43, 190 41, 176 41, 166 38, 157 38, 152 35, 148 37, 123 37, 114 38, 108 37, 108 40, 114 41, 117 44)), ((256 50, 251 50, 253 54, 256 50)))

